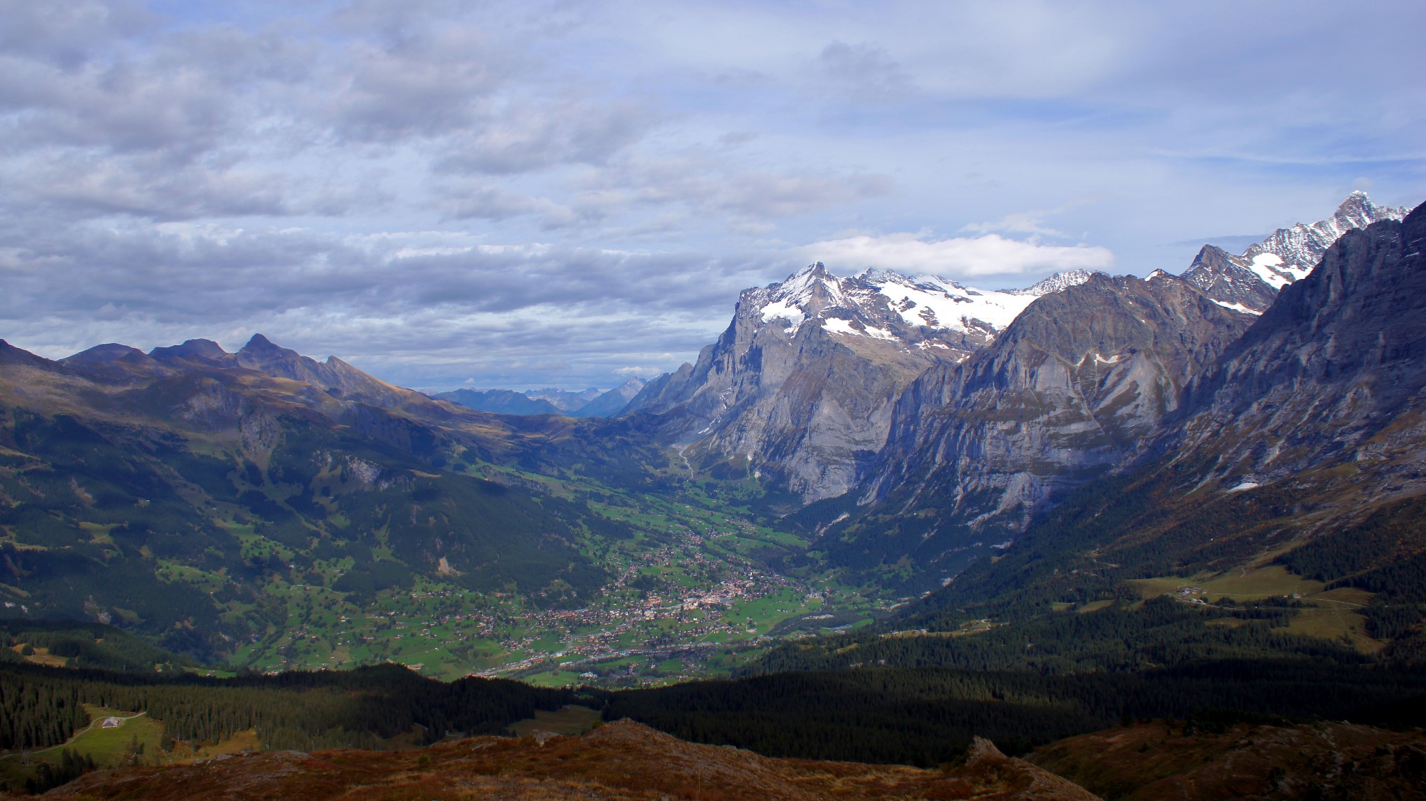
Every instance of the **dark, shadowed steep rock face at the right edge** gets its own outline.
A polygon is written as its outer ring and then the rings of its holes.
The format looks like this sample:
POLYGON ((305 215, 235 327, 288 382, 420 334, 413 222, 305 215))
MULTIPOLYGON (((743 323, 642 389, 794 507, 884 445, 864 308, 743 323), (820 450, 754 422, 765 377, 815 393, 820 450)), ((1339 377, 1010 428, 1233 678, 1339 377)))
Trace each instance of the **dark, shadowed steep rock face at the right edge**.
MULTIPOLYGON (((1266 483, 1426 443, 1426 207, 1349 231, 1189 386, 1161 448, 1266 483)), ((1399 455, 1397 455, 1399 456, 1399 455)), ((1409 465, 1413 459, 1393 459, 1409 465)), ((1415 459, 1420 465, 1420 459, 1415 459)))

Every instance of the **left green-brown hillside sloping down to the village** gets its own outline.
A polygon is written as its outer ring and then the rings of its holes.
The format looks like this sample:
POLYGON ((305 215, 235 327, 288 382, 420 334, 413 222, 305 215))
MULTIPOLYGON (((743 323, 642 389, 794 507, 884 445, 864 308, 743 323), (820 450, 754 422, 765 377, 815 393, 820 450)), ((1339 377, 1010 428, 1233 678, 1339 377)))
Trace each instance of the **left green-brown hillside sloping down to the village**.
POLYGON ((262 336, 0 343, 0 597, 200 660, 448 677, 697 666, 820 606, 770 567, 804 543, 670 467, 637 420, 476 412, 262 336))

